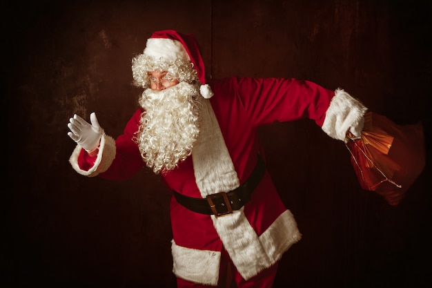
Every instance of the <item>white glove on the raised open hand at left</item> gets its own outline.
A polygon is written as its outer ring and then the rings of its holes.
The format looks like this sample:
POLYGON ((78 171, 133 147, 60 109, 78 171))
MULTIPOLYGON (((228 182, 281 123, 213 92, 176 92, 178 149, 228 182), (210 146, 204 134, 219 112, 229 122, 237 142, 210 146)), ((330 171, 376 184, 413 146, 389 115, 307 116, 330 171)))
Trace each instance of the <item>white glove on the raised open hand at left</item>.
POLYGON ((69 119, 68 128, 71 132, 68 132, 68 136, 91 154, 99 146, 102 128, 99 126, 94 112, 90 114, 90 122, 91 125, 75 114, 73 118, 69 119))

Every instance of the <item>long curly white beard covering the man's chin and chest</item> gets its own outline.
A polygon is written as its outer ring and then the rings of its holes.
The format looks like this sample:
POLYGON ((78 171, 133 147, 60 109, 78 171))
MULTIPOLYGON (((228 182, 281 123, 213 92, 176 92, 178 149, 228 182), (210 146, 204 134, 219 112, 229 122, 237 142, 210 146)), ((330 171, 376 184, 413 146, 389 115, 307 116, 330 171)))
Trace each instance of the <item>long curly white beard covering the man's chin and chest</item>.
POLYGON ((175 169, 188 157, 199 134, 199 89, 181 82, 165 90, 146 89, 137 133, 141 157, 155 173, 175 169))

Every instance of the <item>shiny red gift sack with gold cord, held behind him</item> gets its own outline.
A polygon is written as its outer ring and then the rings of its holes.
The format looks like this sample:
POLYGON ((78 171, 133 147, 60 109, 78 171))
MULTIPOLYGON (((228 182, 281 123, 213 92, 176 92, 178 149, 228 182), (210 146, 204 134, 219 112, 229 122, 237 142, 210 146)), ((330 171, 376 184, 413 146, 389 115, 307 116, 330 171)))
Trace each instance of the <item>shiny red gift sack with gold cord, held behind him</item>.
POLYGON ((426 164, 422 124, 397 125, 383 115, 364 115, 362 137, 348 133, 346 147, 362 189, 400 203, 426 164))

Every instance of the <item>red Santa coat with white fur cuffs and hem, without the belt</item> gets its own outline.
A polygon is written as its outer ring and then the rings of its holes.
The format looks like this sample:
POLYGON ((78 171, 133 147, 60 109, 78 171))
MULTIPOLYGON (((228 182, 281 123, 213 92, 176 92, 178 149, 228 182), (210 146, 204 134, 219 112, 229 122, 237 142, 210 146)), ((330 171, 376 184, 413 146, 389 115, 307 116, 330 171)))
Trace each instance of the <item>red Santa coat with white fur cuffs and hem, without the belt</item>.
MULTIPOLYGON (((246 181, 263 154, 257 128, 272 122, 303 117, 315 120, 323 131, 344 140, 346 131, 362 117, 366 108, 344 90, 328 90, 297 79, 226 78, 210 80, 215 96, 211 107, 222 132, 239 183, 246 181)), ((99 154, 89 157, 79 146, 70 157, 78 173, 110 180, 132 177, 145 166, 132 137, 138 130, 142 109, 126 124, 124 134, 113 140, 104 135, 99 154)), ((201 198, 192 157, 178 168, 162 174, 170 189, 201 198)), ((217 193, 219 191, 215 191, 217 193)), ((173 271, 176 276, 216 285, 220 251, 224 245, 239 273, 247 280, 275 264, 300 232, 290 211, 277 195, 266 173, 242 211, 215 218, 170 203, 173 227, 173 271)))

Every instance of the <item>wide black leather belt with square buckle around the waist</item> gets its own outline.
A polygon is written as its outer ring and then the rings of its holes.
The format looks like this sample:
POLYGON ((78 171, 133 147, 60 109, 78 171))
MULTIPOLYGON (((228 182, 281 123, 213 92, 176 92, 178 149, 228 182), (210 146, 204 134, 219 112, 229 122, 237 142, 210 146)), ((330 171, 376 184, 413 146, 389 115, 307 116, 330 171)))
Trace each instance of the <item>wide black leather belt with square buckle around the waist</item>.
POLYGON ((207 198, 193 198, 173 190, 174 197, 182 206, 190 211, 215 215, 216 217, 233 213, 251 200, 251 195, 266 172, 266 165, 258 155, 257 165, 248 180, 229 192, 208 195, 207 198))

